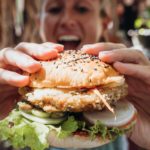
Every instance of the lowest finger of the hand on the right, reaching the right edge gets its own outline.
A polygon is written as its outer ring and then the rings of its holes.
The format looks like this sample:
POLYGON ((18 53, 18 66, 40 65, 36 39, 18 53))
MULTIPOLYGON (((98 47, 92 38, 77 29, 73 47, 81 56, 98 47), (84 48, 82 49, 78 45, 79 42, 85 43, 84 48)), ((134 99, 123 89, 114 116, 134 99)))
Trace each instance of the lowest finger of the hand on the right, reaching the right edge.
POLYGON ((150 66, 121 62, 115 62, 113 66, 121 74, 139 78, 140 80, 143 80, 144 82, 150 84, 150 66))

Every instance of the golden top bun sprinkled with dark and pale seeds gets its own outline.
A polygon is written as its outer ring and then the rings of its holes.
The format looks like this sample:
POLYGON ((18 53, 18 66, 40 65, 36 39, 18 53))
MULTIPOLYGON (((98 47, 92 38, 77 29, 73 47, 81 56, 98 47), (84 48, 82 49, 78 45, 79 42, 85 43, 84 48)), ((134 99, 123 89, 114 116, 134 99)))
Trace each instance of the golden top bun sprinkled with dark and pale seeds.
POLYGON ((124 83, 124 77, 110 65, 79 50, 64 51, 55 60, 41 61, 41 65, 40 71, 30 74, 30 87, 92 88, 124 83))

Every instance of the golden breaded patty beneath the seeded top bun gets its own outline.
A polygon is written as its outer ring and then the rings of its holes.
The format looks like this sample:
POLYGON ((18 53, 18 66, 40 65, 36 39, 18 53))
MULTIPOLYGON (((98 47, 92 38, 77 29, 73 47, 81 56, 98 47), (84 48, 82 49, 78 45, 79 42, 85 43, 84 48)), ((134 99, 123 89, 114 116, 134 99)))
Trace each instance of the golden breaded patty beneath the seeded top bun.
MULTIPOLYGON (((115 88, 99 87, 97 89, 109 104, 127 95, 126 84, 115 88)), ((82 112, 101 110, 105 107, 102 99, 93 92, 93 89, 43 88, 32 89, 26 94, 24 92, 21 93, 28 102, 42 108, 46 112, 82 112)))

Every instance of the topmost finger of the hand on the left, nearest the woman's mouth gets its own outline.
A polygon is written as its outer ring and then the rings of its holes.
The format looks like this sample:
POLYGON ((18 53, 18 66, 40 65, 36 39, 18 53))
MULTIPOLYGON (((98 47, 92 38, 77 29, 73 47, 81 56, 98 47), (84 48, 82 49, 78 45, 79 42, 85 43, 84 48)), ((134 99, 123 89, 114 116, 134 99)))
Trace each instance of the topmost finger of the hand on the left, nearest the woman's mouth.
POLYGON ((63 49, 63 47, 60 48, 60 46, 54 46, 53 44, 49 44, 48 46, 48 44, 20 43, 15 49, 39 60, 49 60, 57 58, 58 51, 63 49))

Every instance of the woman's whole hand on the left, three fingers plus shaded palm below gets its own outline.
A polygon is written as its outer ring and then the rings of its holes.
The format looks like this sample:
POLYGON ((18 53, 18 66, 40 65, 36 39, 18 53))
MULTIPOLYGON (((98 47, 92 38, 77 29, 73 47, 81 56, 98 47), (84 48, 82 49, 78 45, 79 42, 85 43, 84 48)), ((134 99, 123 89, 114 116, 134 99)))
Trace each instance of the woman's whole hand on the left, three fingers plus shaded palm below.
POLYGON ((0 119, 13 108, 18 97, 17 87, 29 83, 29 77, 21 72, 38 71, 41 68, 38 60, 54 59, 61 51, 63 46, 54 43, 20 43, 0 51, 0 119))

